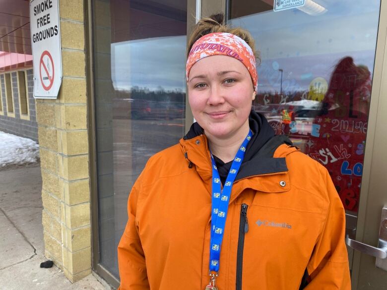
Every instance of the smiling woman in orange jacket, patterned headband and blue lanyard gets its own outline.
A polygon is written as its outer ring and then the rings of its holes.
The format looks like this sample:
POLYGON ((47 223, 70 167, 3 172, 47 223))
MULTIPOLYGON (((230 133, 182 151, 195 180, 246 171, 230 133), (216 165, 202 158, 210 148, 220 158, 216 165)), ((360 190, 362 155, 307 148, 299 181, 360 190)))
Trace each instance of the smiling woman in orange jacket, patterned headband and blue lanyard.
POLYGON ((120 289, 349 290, 329 174, 251 111, 254 41, 222 22, 201 20, 189 42, 197 122, 149 159, 130 192, 120 289))

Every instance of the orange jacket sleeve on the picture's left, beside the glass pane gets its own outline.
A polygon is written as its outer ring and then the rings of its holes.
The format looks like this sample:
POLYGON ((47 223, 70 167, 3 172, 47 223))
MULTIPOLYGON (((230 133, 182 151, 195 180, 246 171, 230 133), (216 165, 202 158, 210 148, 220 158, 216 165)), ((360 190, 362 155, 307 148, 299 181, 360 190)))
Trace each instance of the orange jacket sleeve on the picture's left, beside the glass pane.
POLYGON ((150 289, 145 255, 135 221, 138 200, 138 188, 136 186, 138 182, 136 183, 129 194, 128 223, 118 245, 118 268, 121 279, 118 290, 150 289))

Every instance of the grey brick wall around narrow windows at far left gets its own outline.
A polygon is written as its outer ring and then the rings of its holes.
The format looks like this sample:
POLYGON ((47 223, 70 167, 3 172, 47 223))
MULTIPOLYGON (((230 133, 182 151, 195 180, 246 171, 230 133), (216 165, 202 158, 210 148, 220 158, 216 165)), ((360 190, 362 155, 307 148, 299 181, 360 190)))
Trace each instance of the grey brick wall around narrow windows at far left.
POLYGON ((2 114, 0 114, 0 131, 11 133, 14 135, 30 138, 38 141, 38 124, 36 122, 35 99, 33 97, 33 70, 26 70, 27 87, 28 87, 28 102, 29 102, 29 120, 20 118, 19 95, 17 89, 17 72, 13 71, 11 74, 14 117, 7 113, 7 103, 4 85, 4 73, 0 74, 1 83, 1 98, 2 98, 2 114))

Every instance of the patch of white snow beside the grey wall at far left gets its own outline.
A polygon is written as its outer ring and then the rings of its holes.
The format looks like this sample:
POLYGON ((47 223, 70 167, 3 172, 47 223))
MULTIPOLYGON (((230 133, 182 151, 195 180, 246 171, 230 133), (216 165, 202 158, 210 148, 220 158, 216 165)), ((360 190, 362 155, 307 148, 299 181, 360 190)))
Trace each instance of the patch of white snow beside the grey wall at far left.
POLYGON ((35 141, 0 131, 0 168, 39 161, 39 145, 35 141))

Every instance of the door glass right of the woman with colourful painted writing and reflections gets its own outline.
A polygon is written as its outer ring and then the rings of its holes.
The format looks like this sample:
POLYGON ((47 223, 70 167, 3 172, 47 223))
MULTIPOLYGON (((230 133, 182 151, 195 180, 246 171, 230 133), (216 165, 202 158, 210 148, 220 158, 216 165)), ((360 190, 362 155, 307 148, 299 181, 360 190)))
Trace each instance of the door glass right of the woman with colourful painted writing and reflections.
POLYGON ((356 213, 380 1, 314 0, 319 13, 242 2, 231 1, 229 22, 252 32, 260 51, 256 111, 328 169, 345 209, 356 213))

